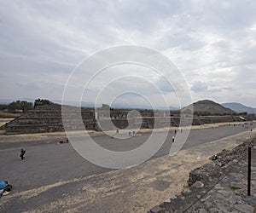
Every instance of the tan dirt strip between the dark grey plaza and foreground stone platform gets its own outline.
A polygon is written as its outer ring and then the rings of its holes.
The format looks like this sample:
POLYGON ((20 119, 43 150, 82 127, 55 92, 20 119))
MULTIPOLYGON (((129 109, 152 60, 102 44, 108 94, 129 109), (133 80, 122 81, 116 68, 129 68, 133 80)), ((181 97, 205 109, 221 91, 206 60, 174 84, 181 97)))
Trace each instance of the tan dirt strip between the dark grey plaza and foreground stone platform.
POLYGON ((212 154, 236 147, 253 135, 255 130, 183 150, 173 157, 154 158, 124 170, 13 193, 6 196, 3 202, 8 204, 19 200, 29 204, 33 199, 40 199, 44 193, 50 195, 52 190, 61 190, 63 193, 54 201, 44 202, 44 205, 34 206, 26 212, 147 212, 181 192, 187 185, 189 171, 209 162, 212 154), (63 188, 68 189, 68 186, 72 186, 73 190, 65 193, 63 188))

